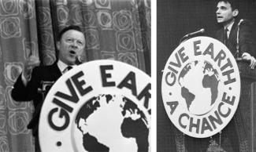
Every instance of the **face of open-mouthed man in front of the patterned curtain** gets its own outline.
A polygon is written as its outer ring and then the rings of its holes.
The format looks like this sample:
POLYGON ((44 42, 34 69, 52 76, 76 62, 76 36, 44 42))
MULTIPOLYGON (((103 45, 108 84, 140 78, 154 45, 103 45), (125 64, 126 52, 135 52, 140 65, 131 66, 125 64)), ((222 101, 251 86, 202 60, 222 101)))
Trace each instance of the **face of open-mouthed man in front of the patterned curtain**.
POLYGON ((82 32, 76 30, 66 31, 57 42, 59 51, 58 59, 62 62, 73 65, 76 57, 80 56, 85 46, 85 38, 82 32))

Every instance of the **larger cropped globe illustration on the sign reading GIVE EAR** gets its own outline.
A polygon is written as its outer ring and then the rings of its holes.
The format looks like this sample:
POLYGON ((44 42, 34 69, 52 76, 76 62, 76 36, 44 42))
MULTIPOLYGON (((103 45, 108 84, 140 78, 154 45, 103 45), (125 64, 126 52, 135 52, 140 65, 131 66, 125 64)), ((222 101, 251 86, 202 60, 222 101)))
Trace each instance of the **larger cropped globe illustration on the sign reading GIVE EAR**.
POLYGON ((125 96, 102 94, 76 115, 84 151, 149 151, 149 124, 143 110, 125 96))

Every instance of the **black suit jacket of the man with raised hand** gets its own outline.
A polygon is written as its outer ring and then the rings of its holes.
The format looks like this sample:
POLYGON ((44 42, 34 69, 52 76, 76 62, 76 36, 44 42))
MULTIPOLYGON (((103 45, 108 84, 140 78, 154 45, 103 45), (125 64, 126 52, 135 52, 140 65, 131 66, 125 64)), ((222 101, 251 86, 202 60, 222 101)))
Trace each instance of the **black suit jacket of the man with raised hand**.
POLYGON ((57 66, 57 62, 55 62, 50 66, 35 67, 32 71, 32 78, 26 86, 24 86, 21 80, 21 74, 13 85, 13 100, 18 102, 33 100, 35 112, 28 124, 28 128, 32 129, 34 136, 37 136, 38 133, 39 114, 43 106, 43 96, 38 90, 42 88, 42 81, 57 81, 60 77, 61 71, 57 66))

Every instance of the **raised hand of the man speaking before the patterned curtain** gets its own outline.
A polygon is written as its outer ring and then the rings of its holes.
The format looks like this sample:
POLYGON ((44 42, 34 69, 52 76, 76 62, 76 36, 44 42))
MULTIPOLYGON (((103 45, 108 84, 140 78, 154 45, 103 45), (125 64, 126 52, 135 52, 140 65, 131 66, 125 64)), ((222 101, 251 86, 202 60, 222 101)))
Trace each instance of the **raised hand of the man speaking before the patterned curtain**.
POLYGON ((36 56, 29 56, 28 60, 25 61, 23 74, 27 81, 31 78, 33 68, 39 66, 39 63, 39 58, 36 56))

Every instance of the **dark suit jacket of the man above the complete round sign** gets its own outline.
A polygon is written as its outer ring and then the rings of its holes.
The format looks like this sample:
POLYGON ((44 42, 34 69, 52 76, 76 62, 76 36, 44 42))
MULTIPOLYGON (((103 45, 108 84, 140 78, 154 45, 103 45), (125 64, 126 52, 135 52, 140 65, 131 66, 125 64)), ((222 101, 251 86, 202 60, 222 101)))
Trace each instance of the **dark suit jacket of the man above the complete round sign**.
MULTIPOLYGON (((251 56, 256 56, 256 42, 254 40, 252 24, 248 20, 244 20, 239 26, 239 57, 243 52, 249 53, 251 56)), ((232 52, 232 55, 236 55, 236 38, 238 30, 238 21, 236 20, 232 26, 229 34, 228 42, 226 46, 232 52)), ((216 39, 224 43, 224 27, 217 31, 216 39)))

